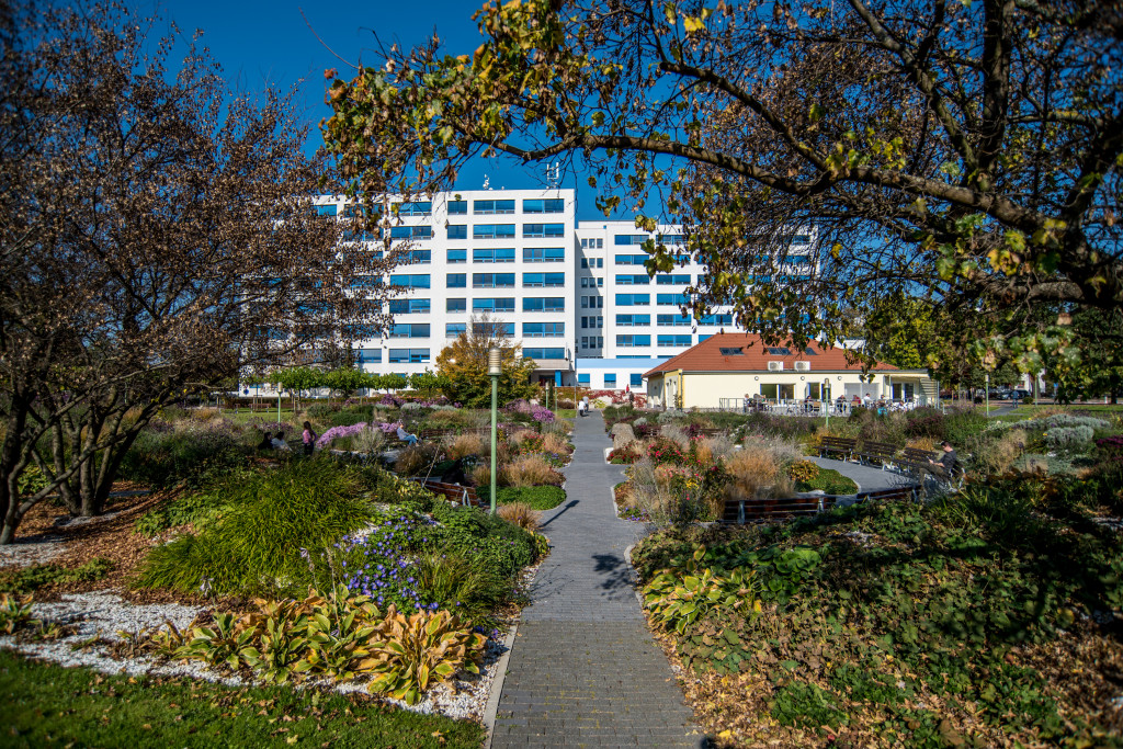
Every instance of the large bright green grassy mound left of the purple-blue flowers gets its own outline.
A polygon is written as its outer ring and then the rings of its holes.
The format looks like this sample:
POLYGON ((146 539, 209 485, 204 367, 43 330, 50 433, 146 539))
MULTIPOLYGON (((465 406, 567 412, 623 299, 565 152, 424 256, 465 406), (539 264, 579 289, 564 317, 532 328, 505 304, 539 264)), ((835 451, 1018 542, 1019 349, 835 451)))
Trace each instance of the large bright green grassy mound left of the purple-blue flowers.
POLYGON ((312 570, 301 549, 335 544, 372 517, 362 472, 298 460, 227 485, 229 510, 195 535, 154 548, 140 587, 226 594, 292 594, 312 570))

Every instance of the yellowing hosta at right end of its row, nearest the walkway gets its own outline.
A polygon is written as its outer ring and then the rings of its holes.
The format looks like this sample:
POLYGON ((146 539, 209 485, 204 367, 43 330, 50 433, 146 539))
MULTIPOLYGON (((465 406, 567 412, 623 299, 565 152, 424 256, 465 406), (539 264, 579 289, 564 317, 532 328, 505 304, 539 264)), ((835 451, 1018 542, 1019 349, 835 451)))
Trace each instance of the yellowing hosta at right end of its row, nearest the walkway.
POLYGON ((393 605, 380 628, 383 639, 372 647, 364 663, 377 676, 369 691, 389 694, 412 705, 430 685, 439 684, 458 669, 478 674, 476 663, 486 638, 460 627, 447 611, 418 612, 410 616, 393 605))

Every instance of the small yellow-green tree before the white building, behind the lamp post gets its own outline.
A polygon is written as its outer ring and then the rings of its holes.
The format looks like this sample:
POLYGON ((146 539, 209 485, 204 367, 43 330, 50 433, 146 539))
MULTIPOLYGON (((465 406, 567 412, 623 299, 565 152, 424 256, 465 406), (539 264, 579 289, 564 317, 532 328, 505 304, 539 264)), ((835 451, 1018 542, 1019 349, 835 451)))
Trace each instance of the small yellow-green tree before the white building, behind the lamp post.
POLYGON ((530 382, 536 368, 533 359, 522 357, 520 344, 499 335, 500 325, 487 317, 473 318, 468 329, 437 355, 437 372, 444 376, 444 393, 450 401, 473 409, 491 405, 487 353, 492 346, 499 347, 503 362, 500 403, 537 394, 537 386, 530 382))

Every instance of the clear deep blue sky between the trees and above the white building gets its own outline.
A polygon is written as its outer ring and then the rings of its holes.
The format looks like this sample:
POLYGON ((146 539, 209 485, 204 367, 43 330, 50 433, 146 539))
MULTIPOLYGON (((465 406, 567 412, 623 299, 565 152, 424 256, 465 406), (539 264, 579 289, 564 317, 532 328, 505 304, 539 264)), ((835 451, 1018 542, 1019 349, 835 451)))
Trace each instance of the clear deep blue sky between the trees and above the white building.
MULTIPOLYGON (((346 76, 346 63, 380 64, 375 34, 387 46, 398 43, 407 48, 424 42, 436 29, 451 54, 471 53, 482 42, 472 16, 483 0, 127 2, 140 16, 159 16, 163 26, 157 26, 155 36, 159 36, 170 21, 189 37, 195 29, 202 29, 202 43, 237 90, 252 92, 266 85, 287 89, 299 83, 300 113, 312 126, 309 150, 322 143, 316 124, 330 115, 323 103, 323 71, 336 67, 340 76, 346 76)), ((535 188, 545 180, 538 166, 524 167, 506 158, 476 159, 462 171, 456 186, 478 189, 485 174, 495 189, 535 188)), ((603 218, 593 204, 585 175, 567 175, 560 186, 578 190, 578 218, 603 218)))

